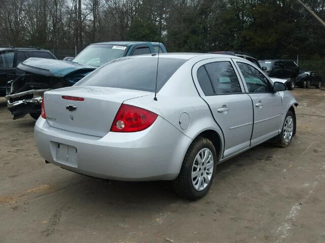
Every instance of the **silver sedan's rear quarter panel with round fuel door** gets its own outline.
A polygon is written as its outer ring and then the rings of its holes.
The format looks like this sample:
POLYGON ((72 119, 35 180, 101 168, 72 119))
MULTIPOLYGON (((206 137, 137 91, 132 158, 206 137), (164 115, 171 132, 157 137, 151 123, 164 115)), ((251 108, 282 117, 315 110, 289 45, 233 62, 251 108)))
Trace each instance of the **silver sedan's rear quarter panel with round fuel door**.
MULTIPOLYGON (((191 75, 194 63, 194 60, 189 60, 174 73, 157 93, 157 101, 153 100, 154 95, 150 95, 127 100, 124 103, 155 112, 191 139, 206 130, 214 130, 219 134, 223 148, 222 131, 213 119, 208 105, 199 96, 194 86, 191 75), (186 130, 180 127, 180 116, 184 112, 190 117, 190 125, 186 130)), ((185 153, 186 151, 184 151, 184 155, 185 153)), ((223 154, 223 151, 219 151, 219 154, 223 154)))

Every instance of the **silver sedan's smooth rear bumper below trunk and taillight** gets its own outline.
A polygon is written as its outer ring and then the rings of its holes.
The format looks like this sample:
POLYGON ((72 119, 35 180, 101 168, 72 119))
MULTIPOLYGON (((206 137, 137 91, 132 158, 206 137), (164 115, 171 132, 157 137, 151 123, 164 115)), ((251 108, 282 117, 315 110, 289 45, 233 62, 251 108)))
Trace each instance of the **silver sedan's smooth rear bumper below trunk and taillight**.
POLYGON ((159 116, 144 131, 109 132, 104 137, 56 129, 40 117, 35 138, 40 155, 52 164, 88 176, 123 181, 175 179, 191 143, 190 138, 159 116), (76 164, 56 159, 57 143, 77 148, 76 164))

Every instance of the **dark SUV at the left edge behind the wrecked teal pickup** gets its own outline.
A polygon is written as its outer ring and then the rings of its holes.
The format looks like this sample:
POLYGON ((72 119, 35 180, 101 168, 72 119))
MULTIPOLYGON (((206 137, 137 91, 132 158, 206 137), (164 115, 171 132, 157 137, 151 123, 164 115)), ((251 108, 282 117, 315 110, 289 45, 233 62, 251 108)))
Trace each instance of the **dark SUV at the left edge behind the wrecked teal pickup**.
POLYGON ((16 67, 29 57, 56 59, 48 50, 40 48, 0 47, 0 97, 6 95, 7 82, 16 77, 16 67))

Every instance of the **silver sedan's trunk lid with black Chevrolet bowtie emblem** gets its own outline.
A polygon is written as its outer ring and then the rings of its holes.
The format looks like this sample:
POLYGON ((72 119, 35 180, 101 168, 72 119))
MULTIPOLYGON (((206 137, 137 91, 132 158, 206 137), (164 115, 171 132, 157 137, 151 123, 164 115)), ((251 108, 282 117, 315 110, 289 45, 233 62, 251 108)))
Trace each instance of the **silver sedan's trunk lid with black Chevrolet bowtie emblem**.
POLYGON ((151 94, 146 91, 89 86, 52 90, 44 93, 46 119, 54 128, 103 137, 110 131, 115 115, 125 100, 151 94), (69 97, 83 100, 72 100, 69 97))

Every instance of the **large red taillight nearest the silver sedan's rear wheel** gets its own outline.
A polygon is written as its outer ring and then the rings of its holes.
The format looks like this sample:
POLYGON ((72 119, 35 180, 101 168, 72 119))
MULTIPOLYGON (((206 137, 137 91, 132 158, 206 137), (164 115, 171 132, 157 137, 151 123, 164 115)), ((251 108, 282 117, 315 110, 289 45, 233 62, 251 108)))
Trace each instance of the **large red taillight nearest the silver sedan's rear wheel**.
POLYGON ((157 114, 133 105, 122 104, 113 121, 111 132, 132 133, 149 128, 157 114))

